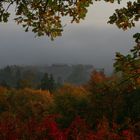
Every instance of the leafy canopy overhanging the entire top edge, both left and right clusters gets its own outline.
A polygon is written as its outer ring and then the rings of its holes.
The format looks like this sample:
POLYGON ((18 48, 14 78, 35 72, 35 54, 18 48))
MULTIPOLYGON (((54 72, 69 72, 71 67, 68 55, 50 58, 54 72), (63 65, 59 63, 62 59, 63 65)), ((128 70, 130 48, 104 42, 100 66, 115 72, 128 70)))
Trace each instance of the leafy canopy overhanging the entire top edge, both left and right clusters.
MULTIPOLYGON (((79 23, 85 18, 88 7, 94 1, 120 3, 122 0, 1 0, 0 22, 8 22, 11 15, 9 8, 12 6, 14 20, 21 24, 26 32, 31 30, 37 36, 46 35, 54 39, 62 35, 62 17, 71 17, 71 22, 79 23)), ((135 0, 129 1, 127 7, 116 9, 108 23, 126 30, 135 26, 135 21, 139 19, 140 0, 135 0)))

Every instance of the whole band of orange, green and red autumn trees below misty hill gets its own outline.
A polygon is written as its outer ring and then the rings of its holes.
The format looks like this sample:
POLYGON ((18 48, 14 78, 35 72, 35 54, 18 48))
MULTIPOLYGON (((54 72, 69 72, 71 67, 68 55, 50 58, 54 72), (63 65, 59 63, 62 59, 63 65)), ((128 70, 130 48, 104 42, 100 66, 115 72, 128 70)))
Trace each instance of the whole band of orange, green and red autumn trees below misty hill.
POLYGON ((94 71, 55 92, 0 87, 2 140, 139 140, 140 87, 94 71))

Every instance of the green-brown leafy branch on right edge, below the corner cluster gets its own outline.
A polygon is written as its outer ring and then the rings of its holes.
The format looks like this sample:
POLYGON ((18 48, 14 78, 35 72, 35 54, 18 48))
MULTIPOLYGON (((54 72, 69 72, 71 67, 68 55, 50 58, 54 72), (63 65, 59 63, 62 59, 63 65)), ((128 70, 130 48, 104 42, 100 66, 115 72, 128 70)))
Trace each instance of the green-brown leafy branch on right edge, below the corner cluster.
POLYGON ((114 67, 116 71, 121 71, 124 79, 132 80, 133 83, 140 84, 140 33, 136 33, 134 36, 136 45, 130 50, 130 54, 122 55, 116 53, 116 59, 114 67))

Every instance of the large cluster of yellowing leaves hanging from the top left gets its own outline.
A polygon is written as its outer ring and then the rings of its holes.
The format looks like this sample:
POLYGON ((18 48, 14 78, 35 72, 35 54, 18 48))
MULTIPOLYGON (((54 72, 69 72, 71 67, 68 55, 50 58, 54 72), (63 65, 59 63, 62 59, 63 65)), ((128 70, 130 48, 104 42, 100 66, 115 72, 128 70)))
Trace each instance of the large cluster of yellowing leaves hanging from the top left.
POLYGON ((63 16, 70 16, 71 22, 79 23, 85 18, 90 4, 92 0, 3 0, 0 2, 0 21, 8 21, 8 9, 15 5, 17 24, 21 24, 26 32, 31 29, 37 36, 46 35, 53 39, 62 34, 63 16))

